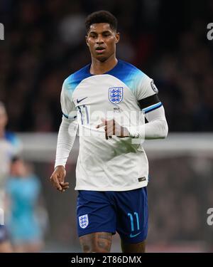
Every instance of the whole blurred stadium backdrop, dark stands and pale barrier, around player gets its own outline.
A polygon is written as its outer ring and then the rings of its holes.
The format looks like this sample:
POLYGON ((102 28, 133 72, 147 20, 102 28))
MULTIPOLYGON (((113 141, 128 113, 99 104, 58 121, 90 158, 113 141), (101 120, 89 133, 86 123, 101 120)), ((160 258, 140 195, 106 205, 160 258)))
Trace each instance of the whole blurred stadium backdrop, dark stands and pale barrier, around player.
MULTIPOLYGON (((89 62, 84 19, 100 9, 119 20, 118 58, 154 78, 170 130, 168 140, 145 144, 151 172, 148 251, 212 251, 212 1, 1 0, 0 100, 9 113, 8 129, 23 140, 23 157, 35 164, 43 184, 49 216, 44 251, 80 251, 73 190, 77 144, 67 164, 72 188, 58 194, 48 178, 62 81, 89 62)), ((120 251, 118 236, 112 251, 120 251)))

